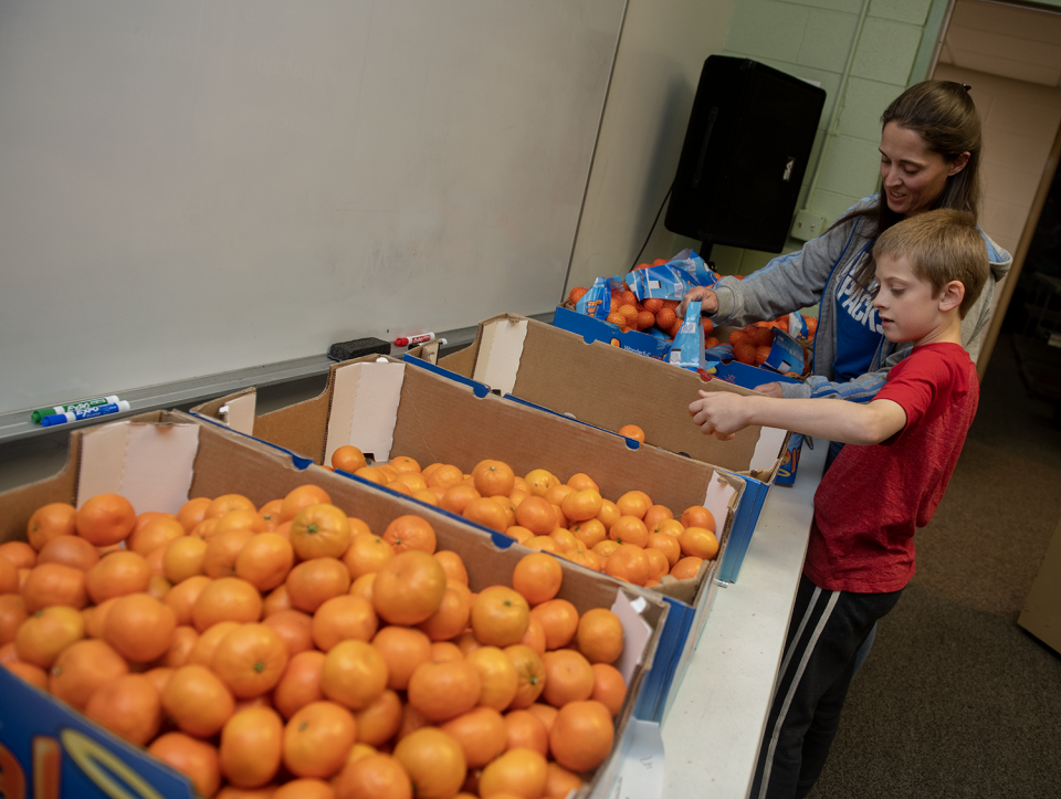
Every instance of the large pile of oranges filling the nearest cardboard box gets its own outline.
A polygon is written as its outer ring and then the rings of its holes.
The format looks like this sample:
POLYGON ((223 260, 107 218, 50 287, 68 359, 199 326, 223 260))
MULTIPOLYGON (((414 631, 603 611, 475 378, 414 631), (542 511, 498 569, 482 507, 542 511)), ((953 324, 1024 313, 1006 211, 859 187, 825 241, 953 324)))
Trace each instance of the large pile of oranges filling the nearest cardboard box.
POLYGON ((203 797, 577 790, 626 696, 618 617, 560 598, 550 555, 473 592, 423 518, 379 533, 314 485, 45 505, 0 545, 0 664, 203 797))

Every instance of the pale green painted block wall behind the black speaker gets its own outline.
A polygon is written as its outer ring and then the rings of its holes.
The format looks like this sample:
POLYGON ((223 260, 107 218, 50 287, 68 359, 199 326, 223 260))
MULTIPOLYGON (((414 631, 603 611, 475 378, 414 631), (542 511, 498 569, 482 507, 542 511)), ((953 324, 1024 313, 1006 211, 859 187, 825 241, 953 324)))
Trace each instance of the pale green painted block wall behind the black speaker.
MULTIPOLYGON (((1061 4, 1057 0, 1054 4, 1061 4)), ((924 80, 946 0, 740 0, 723 50, 754 59, 826 90, 826 107, 797 210, 808 208, 832 222, 879 181, 880 116, 907 85, 924 80), (869 9, 855 46, 859 19, 869 9), (924 42, 923 42, 924 39, 924 42), (826 130, 852 46, 854 59, 836 135, 831 138, 813 197, 808 188, 818 166, 826 130)), ((679 244, 698 246, 682 240, 679 244)), ((786 252, 801 241, 789 239, 786 252)), ((716 245, 716 269, 748 274, 776 253, 716 245)))

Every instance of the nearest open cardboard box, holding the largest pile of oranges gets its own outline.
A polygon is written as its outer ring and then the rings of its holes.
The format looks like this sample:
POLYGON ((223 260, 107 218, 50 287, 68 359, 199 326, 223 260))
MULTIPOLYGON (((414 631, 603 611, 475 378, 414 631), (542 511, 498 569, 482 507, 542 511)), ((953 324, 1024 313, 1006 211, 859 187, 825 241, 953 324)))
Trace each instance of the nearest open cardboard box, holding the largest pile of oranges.
MULTIPOLYGON (((498 547, 490 535, 395 492, 316 466, 300 469, 275 448, 168 412, 73 432, 61 473, 0 494, 0 539, 24 539, 30 515, 49 502, 80 506, 95 494, 115 492, 126 496, 137 513, 174 513, 190 497, 228 493, 243 494, 261 506, 305 483, 324 487, 334 504, 376 532, 403 514, 428 518, 439 549, 451 549, 463 558, 472 590, 498 582, 511 585, 512 570, 527 551, 518 546, 498 547)), ((616 663, 628 677, 616 745, 580 795, 605 796, 621 766, 628 723, 658 654, 665 667, 669 652, 659 646, 671 606, 644 589, 564 560, 560 565, 564 581, 559 596, 580 612, 613 608, 627 631, 627 651, 616 663)), ((0 669, 0 786, 4 796, 23 796, 17 786, 33 785, 42 769, 56 768, 62 796, 193 796, 181 775, 4 669, 0 669)))

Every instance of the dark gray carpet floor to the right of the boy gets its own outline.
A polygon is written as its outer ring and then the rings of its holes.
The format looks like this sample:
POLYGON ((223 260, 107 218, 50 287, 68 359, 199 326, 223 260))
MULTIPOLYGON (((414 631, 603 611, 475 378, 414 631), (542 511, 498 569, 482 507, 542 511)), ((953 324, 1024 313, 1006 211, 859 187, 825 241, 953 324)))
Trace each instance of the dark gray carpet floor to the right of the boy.
POLYGON ((1004 337, 811 799, 1061 797, 1061 656, 1017 625, 1059 518, 1061 425, 1004 337))

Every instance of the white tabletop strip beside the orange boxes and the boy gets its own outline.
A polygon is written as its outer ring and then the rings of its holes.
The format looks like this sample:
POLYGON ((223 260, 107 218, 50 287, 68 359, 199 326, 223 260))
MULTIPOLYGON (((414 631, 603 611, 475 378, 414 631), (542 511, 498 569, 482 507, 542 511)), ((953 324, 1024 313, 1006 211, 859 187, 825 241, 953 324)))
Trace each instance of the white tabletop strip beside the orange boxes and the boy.
POLYGON ((737 580, 719 587, 663 719, 666 799, 746 797, 781 661, 824 466, 803 445, 795 485, 770 490, 737 580))

